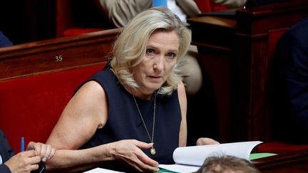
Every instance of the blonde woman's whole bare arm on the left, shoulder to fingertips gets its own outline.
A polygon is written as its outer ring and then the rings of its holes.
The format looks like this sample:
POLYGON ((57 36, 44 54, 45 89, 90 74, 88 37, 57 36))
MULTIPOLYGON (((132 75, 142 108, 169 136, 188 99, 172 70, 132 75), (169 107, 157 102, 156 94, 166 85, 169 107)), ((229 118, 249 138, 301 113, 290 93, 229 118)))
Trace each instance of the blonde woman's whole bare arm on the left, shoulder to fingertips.
POLYGON ((153 144, 137 140, 120 140, 97 147, 78 150, 102 128, 108 119, 108 101, 101 85, 91 81, 83 85, 63 110, 47 144, 56 148, 53 159, 46 162, 49 170, 81 172, 101 162, 121 160, 139 171, 153 171, 158 162, 141 149, 153 144))

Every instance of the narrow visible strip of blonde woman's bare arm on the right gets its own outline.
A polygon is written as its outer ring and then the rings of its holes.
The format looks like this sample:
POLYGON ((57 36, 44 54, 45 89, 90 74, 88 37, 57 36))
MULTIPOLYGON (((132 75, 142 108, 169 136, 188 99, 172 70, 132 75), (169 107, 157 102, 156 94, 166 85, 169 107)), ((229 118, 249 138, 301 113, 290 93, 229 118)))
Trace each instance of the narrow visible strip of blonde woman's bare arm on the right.
POLYGON ((182 113, 182 120, 180 123, 179 147, 185 147, 187 141, 187 122, 186 122, 187 100, 183 82, 181 82, 178 85, 178 97, 182 113))

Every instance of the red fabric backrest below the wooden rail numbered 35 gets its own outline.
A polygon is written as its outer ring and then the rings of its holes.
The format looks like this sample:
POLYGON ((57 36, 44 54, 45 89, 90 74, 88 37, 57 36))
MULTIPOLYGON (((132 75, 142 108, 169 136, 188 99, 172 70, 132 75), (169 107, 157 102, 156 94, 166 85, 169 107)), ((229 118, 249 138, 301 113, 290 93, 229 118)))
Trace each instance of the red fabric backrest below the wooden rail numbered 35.
POLYGON ((0 128, 14 152, 30 141, 46 142, 75 90, 104 65, 0 82, 0 128))

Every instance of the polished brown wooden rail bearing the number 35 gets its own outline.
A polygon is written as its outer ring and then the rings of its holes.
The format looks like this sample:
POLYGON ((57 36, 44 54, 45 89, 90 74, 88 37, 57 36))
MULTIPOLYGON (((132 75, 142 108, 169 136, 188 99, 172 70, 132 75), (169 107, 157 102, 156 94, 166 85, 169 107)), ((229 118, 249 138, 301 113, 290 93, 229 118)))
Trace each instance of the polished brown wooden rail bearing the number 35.
POLYGON ((0 48, 0 80, 106 61, 119 29, 0 48))

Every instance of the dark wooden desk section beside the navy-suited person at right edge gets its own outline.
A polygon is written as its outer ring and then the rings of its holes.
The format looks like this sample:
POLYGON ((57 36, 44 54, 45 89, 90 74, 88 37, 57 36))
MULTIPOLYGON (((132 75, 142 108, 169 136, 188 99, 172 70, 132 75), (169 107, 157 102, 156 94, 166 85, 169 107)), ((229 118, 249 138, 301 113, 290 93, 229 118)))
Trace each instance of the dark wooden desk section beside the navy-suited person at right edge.
POLYGON ((308 1, 237 11, 232 117, 237 140, 271 140, 269 77, 275 44, 287 28, 307 16, 308 1))

